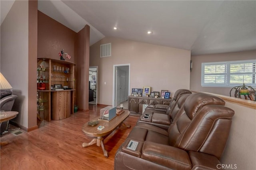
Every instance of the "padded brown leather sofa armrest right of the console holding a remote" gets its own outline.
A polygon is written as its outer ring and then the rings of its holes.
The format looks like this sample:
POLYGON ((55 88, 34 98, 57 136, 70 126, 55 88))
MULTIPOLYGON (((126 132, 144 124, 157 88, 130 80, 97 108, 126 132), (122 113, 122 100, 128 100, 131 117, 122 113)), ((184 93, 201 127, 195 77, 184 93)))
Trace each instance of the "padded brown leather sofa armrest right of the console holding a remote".
POLYGON ((173 146, 145 141, 141 158, 171 169, 191 170, 192 164, 185 150, 173 146))

